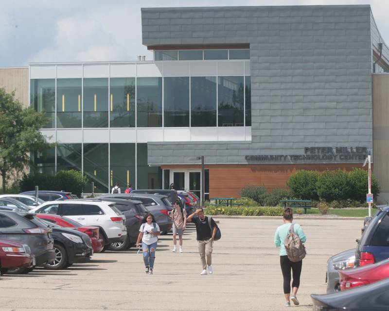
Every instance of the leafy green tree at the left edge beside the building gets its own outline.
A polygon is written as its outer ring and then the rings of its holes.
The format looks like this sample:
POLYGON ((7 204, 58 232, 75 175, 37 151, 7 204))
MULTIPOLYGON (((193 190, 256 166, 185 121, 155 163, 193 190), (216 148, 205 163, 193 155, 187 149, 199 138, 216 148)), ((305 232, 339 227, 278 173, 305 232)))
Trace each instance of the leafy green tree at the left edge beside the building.
POLYGON ((7 177, 21 172, 29 164, 30 151, 42 151, 50 144, 39 129, 49 121, 44 112, 23 108, 15 99, 15 92, 0 88, 0 175, 2 193, 7 177))

